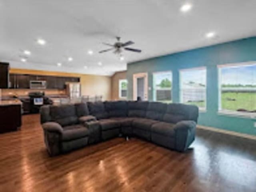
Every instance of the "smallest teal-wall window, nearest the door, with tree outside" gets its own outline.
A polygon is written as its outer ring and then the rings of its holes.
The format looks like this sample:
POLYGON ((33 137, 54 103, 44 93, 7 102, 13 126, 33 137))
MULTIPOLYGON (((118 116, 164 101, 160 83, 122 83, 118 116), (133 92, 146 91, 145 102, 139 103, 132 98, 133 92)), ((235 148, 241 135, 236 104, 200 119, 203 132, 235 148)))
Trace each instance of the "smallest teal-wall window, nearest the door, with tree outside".
POLYGON ((172 102, 172 72, 156 72, 153 74, 153 100, 172 102))

